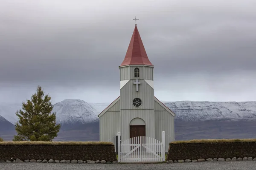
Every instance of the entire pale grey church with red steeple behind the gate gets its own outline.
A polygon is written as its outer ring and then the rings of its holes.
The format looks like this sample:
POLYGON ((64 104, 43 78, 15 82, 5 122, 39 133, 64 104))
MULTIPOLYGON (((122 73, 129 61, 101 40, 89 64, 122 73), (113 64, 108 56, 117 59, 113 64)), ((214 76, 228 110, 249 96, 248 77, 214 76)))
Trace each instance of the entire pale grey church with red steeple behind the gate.
MULTIPOLYGON (((156 56, 157 57, 157 56, 156 56)), ((154 65, 149 61, 137 24, 120 70, 120 96, 99 114, 100 141, 116 145, 135 136, 149 136, 162 141, 165 152, 174 141, 175 113, 154 96, 154 65)))

